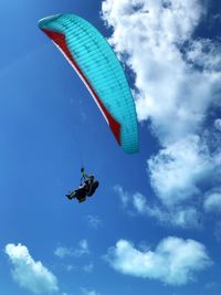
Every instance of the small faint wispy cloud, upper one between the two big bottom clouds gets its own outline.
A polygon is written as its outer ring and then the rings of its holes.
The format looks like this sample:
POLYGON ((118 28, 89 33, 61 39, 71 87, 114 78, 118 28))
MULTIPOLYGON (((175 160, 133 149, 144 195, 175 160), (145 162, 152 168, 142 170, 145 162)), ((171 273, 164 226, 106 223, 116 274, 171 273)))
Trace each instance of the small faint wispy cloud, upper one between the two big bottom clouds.
POLYGON ((54 255, 59 256, 60 259, 64 259, 67 256, 80 257, 85 254, 90 254, 88 242, 85 239, 78 242, 78 246, 76 249, 57 246, 54 251, 54 255))

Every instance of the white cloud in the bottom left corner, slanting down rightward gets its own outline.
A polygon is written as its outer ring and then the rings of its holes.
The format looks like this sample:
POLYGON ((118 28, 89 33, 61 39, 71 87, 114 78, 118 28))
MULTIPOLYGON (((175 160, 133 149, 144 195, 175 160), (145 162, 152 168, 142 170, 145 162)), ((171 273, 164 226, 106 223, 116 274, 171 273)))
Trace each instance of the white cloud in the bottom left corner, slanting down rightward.
POLYGON ((12 263, 12 277, 35 294, 48 294, 59 291, 57 280, 40 261, 34 261, 27 246, 7 244, 4 249, 12 263))

